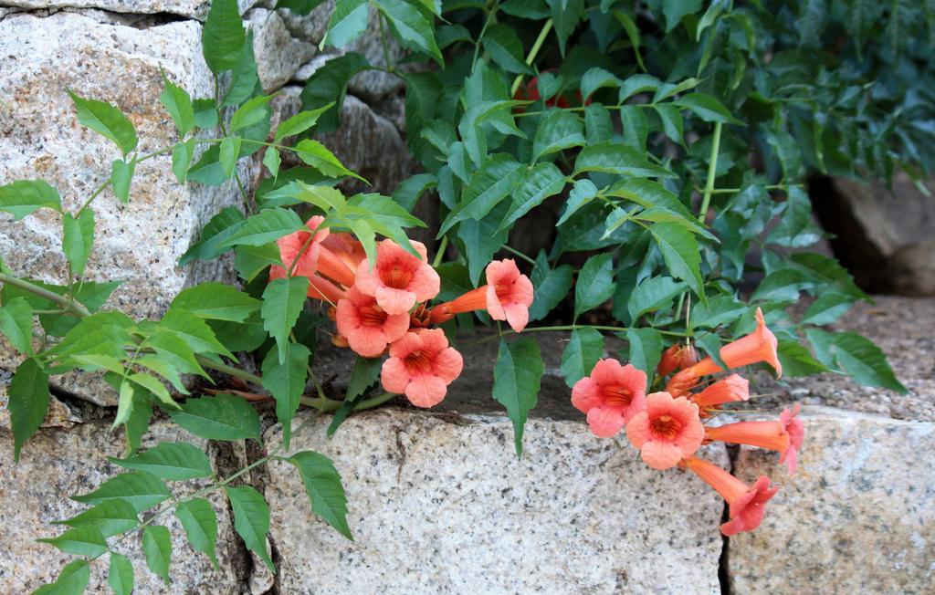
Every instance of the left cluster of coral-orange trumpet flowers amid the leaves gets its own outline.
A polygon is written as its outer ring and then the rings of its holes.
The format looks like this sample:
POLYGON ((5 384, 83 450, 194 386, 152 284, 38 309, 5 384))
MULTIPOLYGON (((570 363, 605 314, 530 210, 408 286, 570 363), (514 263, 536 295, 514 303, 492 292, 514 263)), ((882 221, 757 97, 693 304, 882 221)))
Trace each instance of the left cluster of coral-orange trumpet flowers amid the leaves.
MULTIPOLYGON (((323 217, 312 217, 308 231, 282 237, 281 261, 292 275, 309 277, 309 298, 332 306, 329 313, 338 326, 335 345, 351 347, 365 358, 388 354, 381 369, 383 389, 405 394, 414 405, 439 404, 464 365, 445 333, 430 325, 474 310, 506 320, 516 332, 529 320, 532 282, 512 260, 490 262, 486 285, 429 307, 441 280, 422 243, 410 240, 416 256, 393 240, 382 240, 376 262, 370 262, 356 238, 331 232, 323 222, 323 217)), ((288 274, 275 266, 270 278, 288 274)))

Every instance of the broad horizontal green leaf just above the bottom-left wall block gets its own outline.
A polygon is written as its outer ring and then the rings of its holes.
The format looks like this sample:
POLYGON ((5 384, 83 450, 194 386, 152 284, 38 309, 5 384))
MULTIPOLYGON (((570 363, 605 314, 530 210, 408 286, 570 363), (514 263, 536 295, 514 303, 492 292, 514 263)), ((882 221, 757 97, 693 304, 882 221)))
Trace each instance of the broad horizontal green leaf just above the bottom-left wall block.
POLYGON ((260 439, 260 418, 240 397, 219 394, 189 399, 169 416, 185 430, 209 440, 260 439))

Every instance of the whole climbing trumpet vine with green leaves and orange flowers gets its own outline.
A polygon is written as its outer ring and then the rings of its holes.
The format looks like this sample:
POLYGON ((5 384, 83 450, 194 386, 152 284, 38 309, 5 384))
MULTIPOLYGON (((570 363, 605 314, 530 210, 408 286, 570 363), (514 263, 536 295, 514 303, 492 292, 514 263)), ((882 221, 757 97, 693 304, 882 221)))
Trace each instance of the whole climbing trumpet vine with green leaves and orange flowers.
MULTIPOLYGON (((319 4, 279 7, 308 14, 319 4)), ((120 110, 69 92, 79 122, 118 157, 75 209, 39 179, 0 186, 0 210, 16 220, 38 209, 61 215, 68 263, 52 284, 0 262, 0 331, 22 356, 8 387, 15 457, 45 418, 50 380, 75 371, 103 375, 114 390, 126 452, 112 460, 122 473, 75 495, 89 508, 44 540, 78 559, 37 592, 83 591, 102 559, 109 587, 130 592, 133 564, 118 545, 135 535, 151 572, 168 581, 169 513, 217 564, 215 492, 230 502, 244 544, 272 567, 269 510, 241 481, 269 460, 292 464, 314 513, 350 538, 332 462, 290 449, 296 411, 334 413, 332 434, 396 394, 437 404, 461 372, 450 345, 478 323, 499 331, 490 335, 500 341, 493 398, 511 418, 517 454, 543 372, 525 335, 566 331, 561 372, 592 431, 626 424, 648 464, 678 464, 725 496, 732 517, 722 531, 755 529, 758 517, 733 516, 738 496, 724 486, 736 483, 694 457, 702 439, 742 441, 701 420, 749 398, 746 380, 692 390, 701 376, 760 362, 786 376, 837 372, 904 390, 869 340, 821 328, 870 298, 837 262, 806 249, 822 232, 804 183, 814 172, 928 174, 933 22, 931 2, 338 0, 324 45, 381 35, 387 49, 393 35, 404 52, 395 61, 386 50, 384 64, 354 52, 329 60, 302 91, 302 111, 273 130, 252 33, 235 0, 215 0, 203 33, 214 96, 192 97, 166 77, 158 98, 178 142, 142 153, 120 110), (370 69, 404 80, 421 171, 392 196, 349 197, 338 182, 366 180, 315 137, 338 127, 349 80, 370 69), (286 154, 301 165, 283 168, 286 154), (133 200, 137 165, 156 158, 171 159, 180 184, 236 180, 242 205, 211 219, 179 264, 233 251, 239 279, 183 290, 160 319, 135 320, 106 307, 119 283, 85 269, 95 211, 109 208, 101 197, 133 200), (255 189, 238 170, 248 160, 264 167, 255 189), (425 227, 415 212, 438 216, 431 259, 407 236, 425 227), (542 239, 537 253, 511 246, 530 230, 542 239), (803 294, 808 305, 793 317, 803 294), (323 333, 357 354, 344 395, 325 394, 312 373, 323 333), (602 359, 608 334, 623 339, 626 366, 602 359), (255 407, 264 401, 282 426, 275 444, 264 444, 255 407), (221 476, 203 446, 143 448, 157 410, 198 445, 252 440, 265 454, 221 476), (669 439, 676 448, 663 457, 653 445, 669 439)), ((780 424, 762 428, 779 428, 784 443, 752 443, 780 450, 790 470, 797 412, 763 422, 780 424)), ((757 505, 775 493, 765 478, 744 489, 757 505)))

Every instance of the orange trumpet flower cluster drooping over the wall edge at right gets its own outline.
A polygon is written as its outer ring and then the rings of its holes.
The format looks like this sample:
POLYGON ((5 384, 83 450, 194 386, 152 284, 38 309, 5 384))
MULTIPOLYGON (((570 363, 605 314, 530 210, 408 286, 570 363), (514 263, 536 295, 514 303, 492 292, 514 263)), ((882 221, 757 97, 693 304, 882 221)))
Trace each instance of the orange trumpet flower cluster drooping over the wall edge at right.
MULTIPOLYGON (((776 354, 776 337, 756 310, 756 329, 720 352, 729 369, 766 362, 777 375, 783 369, 776 354)), ((712 358, 698 361, 695 349, 674 346, 659 362, 660 377, 671 375, 665 390, 646 394, 646 375, 630 364, 615 360, 597 362, 591 375, 571 391, 571 403, 587 416, 591 431, 609 438, 626 428, 626 437, 640 449, 640 457, 654 469, 681 467, 698 475, 728 504, 729 520, 721 526, 725 535, 753 531, 763 518, 764 506, 776 493, 770 478, 761 475, 748 486, 721 467, 696 457, 704 444, 721 441, 776 450, 789 473, 795 473, 798 448, 805 436, 798 404, 785 409, 778 420, 741 421, 718 427, 705 426, 722 405, 750 398, 749 382, 731 374, 693 392, 703 376, 725 370, 712 358), (674 373, 674 374, 673 374, 674 373)))

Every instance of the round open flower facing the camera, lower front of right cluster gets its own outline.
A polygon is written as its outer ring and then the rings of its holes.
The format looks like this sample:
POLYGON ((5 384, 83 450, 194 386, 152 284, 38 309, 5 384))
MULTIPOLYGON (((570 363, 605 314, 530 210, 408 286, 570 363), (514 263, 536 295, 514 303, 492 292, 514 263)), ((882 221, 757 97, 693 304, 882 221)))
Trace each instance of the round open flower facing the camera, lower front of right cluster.
POLYGON ((668 392, 646 397, 646 408, 626 423, 626 437, 654 469, 670 469, 695 454, 704 441, 698 405, 668 392))

